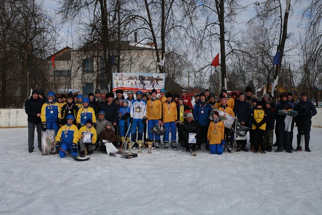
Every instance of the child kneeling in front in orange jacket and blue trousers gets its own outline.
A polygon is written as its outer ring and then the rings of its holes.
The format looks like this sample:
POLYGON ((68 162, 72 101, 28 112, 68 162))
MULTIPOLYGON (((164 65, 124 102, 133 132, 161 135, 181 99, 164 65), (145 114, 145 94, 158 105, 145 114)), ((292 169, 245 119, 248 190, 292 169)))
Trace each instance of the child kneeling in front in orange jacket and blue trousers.
POLYGON ((225 145, 224 140, 224 124, 219 119, 219 112, 213 112, 213 120, 209 124, 208 135, 207 135, 207 145, 210 149, 211 154, 221 155, 223 153, 223 148, 225 145))

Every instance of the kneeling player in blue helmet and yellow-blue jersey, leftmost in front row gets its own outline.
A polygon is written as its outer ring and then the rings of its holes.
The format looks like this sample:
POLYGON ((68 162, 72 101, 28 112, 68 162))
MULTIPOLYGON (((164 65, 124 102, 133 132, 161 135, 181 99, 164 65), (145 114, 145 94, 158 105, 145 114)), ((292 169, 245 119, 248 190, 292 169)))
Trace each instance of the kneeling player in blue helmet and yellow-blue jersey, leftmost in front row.
MULTIPOLYGON (((75 118, 73 117, 73 115, 67 115, 66 118, 67 124, 59 128, 59 131, 55 137, 55 148, 56 150, 59 150, 59 148, 64 151, 70 150, 70 154, 74 157, 77 157, 78 129, 76 125, 72 124, 72 121, 75 120, 75 118)), ((65 156, 66 153, 60 150, 59 157, 64 158, 65 156)))

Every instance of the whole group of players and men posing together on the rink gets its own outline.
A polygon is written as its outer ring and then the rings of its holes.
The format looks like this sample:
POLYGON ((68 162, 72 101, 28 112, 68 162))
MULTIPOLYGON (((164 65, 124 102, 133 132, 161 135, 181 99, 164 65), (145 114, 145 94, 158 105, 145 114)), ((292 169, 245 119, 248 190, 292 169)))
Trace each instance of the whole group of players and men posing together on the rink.
POLYGON ((298 128, 295 150, 302 150, 301 136, 304 135, 305 151, 310 152, 311 117, 316 114, 306 93, 301 94, 301 101, 297 103, 291 93, 283 93, 275 104, 268 94, 258 100, 250 87, 245 93, 232 92, 231 96, 222 89, 218 101, 214 94, 205 90, 195 95, 194 104, 185 89, 181 95, 161 89, 158 96, 155 89, 144 94, 129 90, 126 99, 122 90, 116 90, 116 96, 106 90, 96 90, 88 97, 70 92, 67 97, 56 98, 52 91, 47 93, 47 98, 41 97, 38 90, 34 90, 26 101, 28 150, 30 153, 34 150, 35 127, 40 151, 41 130, 54 129, 55 148, 61 158, 67 151, 75 157, 78 153, 81 157, 90 155, 97 148, 106 152, 105 145, 98 144, 103 140, 117 148, 124 142, 133 142, 134 149, 150 144, 156 150, 161 145, 165 150, 170 146, 176 150, 177 131, 181 147, 194 155, 202 146, 211 154, 231 152, 235 146, 237 152, 248 152, 247 135, 236 132, 237 127, 250 130, 251 149, 255 153, 272 151, 274 128, 275 146, 278 146, 275 152, 285 149, 291 153, 294 123, 298 128), (234 122, 227 123, 228 118, 233 118, 234 122))

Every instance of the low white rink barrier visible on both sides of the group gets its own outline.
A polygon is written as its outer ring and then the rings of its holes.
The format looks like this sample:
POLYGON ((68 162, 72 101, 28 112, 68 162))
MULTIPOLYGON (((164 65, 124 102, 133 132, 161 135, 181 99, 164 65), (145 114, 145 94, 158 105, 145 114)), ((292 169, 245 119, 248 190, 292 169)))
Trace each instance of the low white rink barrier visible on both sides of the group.
MULTIPOLYGON (((312 127, 322 127, 322 108, 316 108, 317 114, 312 117, 312 127)), ((27 114, 25 109, 1 108, 0 127, 27 127, 27 114)))

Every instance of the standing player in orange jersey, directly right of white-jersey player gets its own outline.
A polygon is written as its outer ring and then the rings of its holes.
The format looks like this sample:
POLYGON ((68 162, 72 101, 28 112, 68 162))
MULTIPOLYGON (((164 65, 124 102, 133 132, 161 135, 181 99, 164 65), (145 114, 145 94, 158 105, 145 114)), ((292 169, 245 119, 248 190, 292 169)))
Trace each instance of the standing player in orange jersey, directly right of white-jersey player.
POLYGON ((158 150, 161 142, 160 135, 151 133, 150 129, 156 124, 162 123, 162 102, 156 97, 156 90, 154 88, 151 94, 151 99, 146 102, 146 118, 149 140, 153 141, 155 138, 155 148, 158 150))

